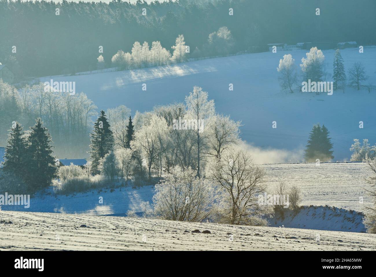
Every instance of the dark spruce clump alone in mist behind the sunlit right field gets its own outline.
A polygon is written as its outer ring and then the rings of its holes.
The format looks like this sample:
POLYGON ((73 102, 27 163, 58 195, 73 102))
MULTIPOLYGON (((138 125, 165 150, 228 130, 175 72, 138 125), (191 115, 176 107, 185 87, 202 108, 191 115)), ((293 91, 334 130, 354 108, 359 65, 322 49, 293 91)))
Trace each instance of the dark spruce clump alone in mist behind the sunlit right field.
POLYGON ((324 125, 320 127, 320 124, 315 124, 309 133, 305 149, 304 158, 306 161, 315 162, 316 159, 319 159, 320 162, 331 161, 334 156, 332 156, 333 151, 331 149, 333 144, 330 140, 328 129, 324 125))

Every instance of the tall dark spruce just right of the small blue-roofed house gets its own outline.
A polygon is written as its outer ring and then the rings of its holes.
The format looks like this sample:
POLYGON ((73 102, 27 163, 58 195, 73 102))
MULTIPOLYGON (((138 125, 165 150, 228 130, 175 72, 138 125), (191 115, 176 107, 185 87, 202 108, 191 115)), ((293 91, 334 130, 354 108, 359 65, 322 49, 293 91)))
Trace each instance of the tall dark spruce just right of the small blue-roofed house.
POLYGON ((92 158, 92 173, 99 173, 99 162, 107 153, 114 148, 114 134, 110 129, 110 124, 102 110, 100 116, 94 123, 94 130, 90 134, 90 156, 92 158))

